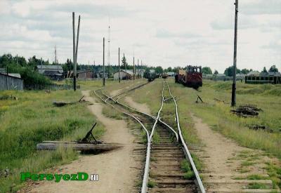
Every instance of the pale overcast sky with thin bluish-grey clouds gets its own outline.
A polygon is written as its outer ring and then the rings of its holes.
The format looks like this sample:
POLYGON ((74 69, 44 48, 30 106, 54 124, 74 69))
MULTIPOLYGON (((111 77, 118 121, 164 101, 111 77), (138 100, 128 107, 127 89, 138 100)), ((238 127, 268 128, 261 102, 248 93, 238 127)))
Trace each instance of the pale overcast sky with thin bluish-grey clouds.
MULTIPOLYGON (((11 53, 50 62, 72 59, 72 11, 81 15, 77 62, 185 67, 223 72, 233 65, 234 0, 0 0, 0 55, 11 53), (120 57, 121 58, 121 57, 120 57)), ((77 30, 77 29, 76 29, 77 30)), ((237 68, 281 70, 281 1, 239 2, 237 68)))

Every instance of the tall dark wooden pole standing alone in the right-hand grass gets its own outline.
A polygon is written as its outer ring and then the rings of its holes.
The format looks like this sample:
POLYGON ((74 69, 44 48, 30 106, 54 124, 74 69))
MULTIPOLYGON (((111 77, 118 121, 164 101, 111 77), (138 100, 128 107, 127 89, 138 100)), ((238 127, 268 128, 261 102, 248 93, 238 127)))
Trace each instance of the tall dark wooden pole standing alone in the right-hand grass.
POLYGON ((234 27, 234 54, 233 54, 233 92, 232 92, 232 95, 231 95, 231 107, 234 107, 236 105, 237 19, 238 19, 238 0, 235 0, 235 27, 234 27))

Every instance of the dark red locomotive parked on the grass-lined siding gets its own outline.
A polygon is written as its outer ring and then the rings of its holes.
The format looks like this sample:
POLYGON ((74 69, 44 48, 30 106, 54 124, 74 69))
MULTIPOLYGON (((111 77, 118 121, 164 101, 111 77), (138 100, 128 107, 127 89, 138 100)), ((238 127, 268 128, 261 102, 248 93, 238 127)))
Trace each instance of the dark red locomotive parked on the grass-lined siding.
POLYGON ((179 69, 175 75, 175 82, 191 88, 202 86, 202 67, 188 65, 186 70, 179 69))

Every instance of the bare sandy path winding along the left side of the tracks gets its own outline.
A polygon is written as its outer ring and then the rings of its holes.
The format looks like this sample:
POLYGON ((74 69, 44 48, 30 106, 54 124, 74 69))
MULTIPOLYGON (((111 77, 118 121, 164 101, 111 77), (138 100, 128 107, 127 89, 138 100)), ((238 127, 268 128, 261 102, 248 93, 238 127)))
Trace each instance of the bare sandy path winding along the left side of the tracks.
POLYGON ((91 181, 61 181, 40 182, 28 192, 136 192, 133 187, 137 178, 138 163, 133 159, 133 135, 126 128, 126 122, 105 117, 102 114, 103 105, 89 97, 89 91, 82 91, 85 100, 93 102, 89 109, 106 128, 102 140, 124 144, 122 149, 93 156, 81 156, 71 164, 61 166, 62 173, 86 172, 98 174, 98 182, 91 181))

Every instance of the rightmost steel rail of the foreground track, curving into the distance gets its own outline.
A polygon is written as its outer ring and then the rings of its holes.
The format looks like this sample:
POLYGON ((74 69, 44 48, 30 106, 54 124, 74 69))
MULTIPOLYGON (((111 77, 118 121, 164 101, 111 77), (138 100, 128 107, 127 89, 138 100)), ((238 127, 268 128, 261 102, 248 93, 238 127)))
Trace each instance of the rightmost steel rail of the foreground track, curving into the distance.
POLYGON ((190 164, 191 164, 191 166, 192 166, 192 170, 193 170, 194 173, 195 173, 195 177, 196 177, 198 186, 199 186, 199 188, 200 188, 200 192, 205 193, 204 185, 203 185, 203 183, 202 183, 202 180, 201 180, 201 178, 200 178, 200 175, 199 175, 199 173, 198 173, 198 171, 197 171, 197 168, 196 168, 196 166, 195 166, 195 164, 194 164, 194 161, 193 161, 193 159, 192 159, 192 157, 191 157, 191 154, 190 154, 190 152, 189 152, 189 150, 188 150, 188 146, 185 144, 185 140, 183 139, 183 135, 182 135, 182 132, 181 132, 180 121, 179 121, 179 117, 178 117, 178 105, 176 104, 176 99, 175 99, 174 96, 171 94, 171 89, 170 89, 170 86, 169 86, 169 84, 168 84, 167 81, 166 81, 166 84, 167 84, 167 86, 168 86, 168 88, 169 88, 169 93, 170 93, 170 95, 171 95, 171 98, 173 98, 173 100, 174 100, 174 105, 175 105, 175 107, 176 107, 176 123, 177 123, 177 126, 178 126, 178 134, 180 135, 181 143, 183 144, 183 150, 184 150, 184 152, 185 152, 185 157, 187 157, 187 159, 190 161, 190 164))

